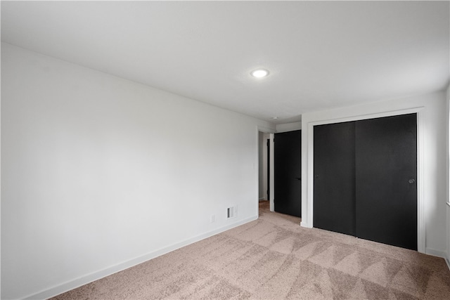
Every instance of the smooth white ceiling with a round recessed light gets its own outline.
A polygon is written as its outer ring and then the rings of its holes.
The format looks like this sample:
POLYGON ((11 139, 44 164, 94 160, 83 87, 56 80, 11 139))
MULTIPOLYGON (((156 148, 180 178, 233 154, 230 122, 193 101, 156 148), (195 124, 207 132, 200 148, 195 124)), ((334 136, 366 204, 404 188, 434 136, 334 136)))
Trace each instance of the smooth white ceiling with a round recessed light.
POLYGON ((1 40, 281 124, 445 89, 449 4, 1 1, 1 40))

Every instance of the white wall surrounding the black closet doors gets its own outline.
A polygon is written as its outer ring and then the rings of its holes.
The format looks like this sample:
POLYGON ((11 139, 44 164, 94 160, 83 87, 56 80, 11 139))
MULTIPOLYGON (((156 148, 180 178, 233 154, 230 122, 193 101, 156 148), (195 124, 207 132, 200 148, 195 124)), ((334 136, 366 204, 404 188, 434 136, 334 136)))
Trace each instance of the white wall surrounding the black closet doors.
POLYGON ((309 140, 309 126, 316 122, 338 122, 345 118, 368 118, 370 115, 407 110, 423 109, 423 202, 425 219, 425 252, 445 256, 446 253, 446 97, 445 92, 430 93, 404 99, 383 101, 340 109, 310 112, 302 115, 302 226, 313 226, 311 167, 312 143, 309 140), (333 121, 332 121, 333 120, 333 121))

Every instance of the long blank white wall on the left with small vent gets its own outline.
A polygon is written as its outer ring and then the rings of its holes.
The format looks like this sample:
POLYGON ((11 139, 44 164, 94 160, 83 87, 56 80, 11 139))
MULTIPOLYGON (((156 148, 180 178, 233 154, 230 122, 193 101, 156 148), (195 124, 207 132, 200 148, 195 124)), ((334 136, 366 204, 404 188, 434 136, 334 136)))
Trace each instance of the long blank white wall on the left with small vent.
POLYGON ((2 299, 257 219, 257 128, 273 125, 8 44, 1 87, 2 299))

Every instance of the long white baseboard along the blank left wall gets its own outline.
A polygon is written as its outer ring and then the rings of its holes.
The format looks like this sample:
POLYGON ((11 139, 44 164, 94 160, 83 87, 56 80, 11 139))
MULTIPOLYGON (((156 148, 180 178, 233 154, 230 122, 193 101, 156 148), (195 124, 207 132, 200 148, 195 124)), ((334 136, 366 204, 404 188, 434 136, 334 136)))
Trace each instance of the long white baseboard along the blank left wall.
POLYGON ((212 237, 213 235, 217 235, 218 233, 223 233, 226 230, 230 230, 231 228, 235 228, 237 226, 241 226, 245 223, 255 221, 258 219, 258 216, 252 216, 247 219, 243 219, 241 221, 238 221, 236 223, 229 224, 227 226, 223 226, 221 228, 217 228, 215 230, 209 231, 207 233, 203 233, 201 235, 197 235, 195 237, 191 237, 188 240, 184 240, 182 242, 177 242, 175 244, 172 244, 170 246, 164 247, 162 249, 156 250, 154 252, 150 252, 148 254, 145 254, 143 256, 136 257, 135 259, 130 259, 129 261, 124 261, 123 263, 118 263, 115 266, 110 266, 108 268, 105 268, 103 270, 98 270, 94 273, 84 275, 80 278, 77 278, 75 280, 70 280, 68 282, 64 282, 61 285, 57 285, 55 287, 51 287, 49 289, 45 289, 41 292, 38 292, 36 294, 32 294, 30 296, 26 296, 24 299, 33 299, 33 300, 39 300, 39 299, 49 299, 53 296, 57 296, 58 294, 62 294, 64 292, 68 292, 71 289, 76 289, 77 287, 81 287, 82 285, 86 285, 90 282, 93 282, 95 280, 99 280, 101 278, 105 278, 106 276, 112 275, 114 273, 120 272, 121 270, 125 270, 127 268, 131 268, 132 266, 136 266, 139 263, 143 263, 145 261, 148 261, 150 259, 155 259, 158 256, 161 256, 163 254, 172 252, 176 249, 179 249, 181 247, 185 247, 188 244, 193 244, 194 242, 198 242, 200 240, 204 240, 207 237, 212 237))

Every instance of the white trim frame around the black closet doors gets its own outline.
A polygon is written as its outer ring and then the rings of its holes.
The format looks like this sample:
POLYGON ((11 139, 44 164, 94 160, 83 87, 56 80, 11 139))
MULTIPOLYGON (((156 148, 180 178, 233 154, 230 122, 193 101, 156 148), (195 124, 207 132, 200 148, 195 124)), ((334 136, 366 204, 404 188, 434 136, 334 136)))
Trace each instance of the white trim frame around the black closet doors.
POLYGON ((323 124, 333 124, 341 122, 351 122, 363 119, 374 119, 380 117, 392 117, 396 115, 417 115, 417 249, 420 253, 425 253, 425 208, 423 199, 423 110, 424 107, 416 107, 407 110, 393 110, 389 112, 380 112, 367 115, 356 115, 339 119, 324 119, 317 122, 309 122, 308 125, 308 148, 307 148, 307 201, 302 206, 301 226, 312 228, 314 211, 314 126, 323 124))

